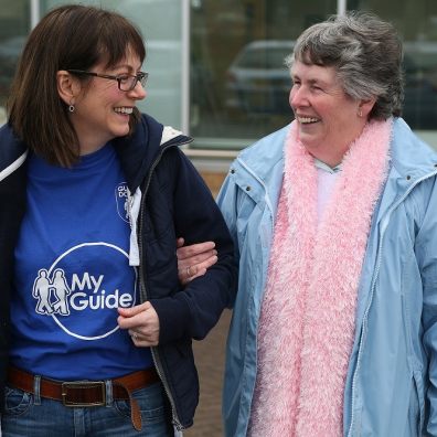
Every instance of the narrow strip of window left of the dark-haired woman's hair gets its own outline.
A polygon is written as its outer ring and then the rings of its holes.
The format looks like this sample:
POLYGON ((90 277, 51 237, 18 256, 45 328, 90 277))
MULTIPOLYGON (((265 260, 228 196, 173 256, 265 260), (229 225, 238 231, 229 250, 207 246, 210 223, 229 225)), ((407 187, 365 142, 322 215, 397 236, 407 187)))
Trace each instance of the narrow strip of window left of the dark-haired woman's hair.
POLYGON ((30 29, 28 0, 0 0, 0 126, 17 62, 30 29))

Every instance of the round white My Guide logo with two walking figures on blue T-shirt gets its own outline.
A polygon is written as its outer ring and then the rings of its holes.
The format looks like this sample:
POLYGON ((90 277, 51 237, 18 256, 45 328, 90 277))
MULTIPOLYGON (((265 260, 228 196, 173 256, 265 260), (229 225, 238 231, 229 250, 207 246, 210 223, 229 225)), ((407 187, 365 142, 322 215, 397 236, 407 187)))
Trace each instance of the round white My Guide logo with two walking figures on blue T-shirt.
POLYGON ((118 330, 117 308, 132 307, 136 269, 128 254, 108 243, 84 243, 41 268, 33 283, 35 312, 66 333, 97 340, 118 330))

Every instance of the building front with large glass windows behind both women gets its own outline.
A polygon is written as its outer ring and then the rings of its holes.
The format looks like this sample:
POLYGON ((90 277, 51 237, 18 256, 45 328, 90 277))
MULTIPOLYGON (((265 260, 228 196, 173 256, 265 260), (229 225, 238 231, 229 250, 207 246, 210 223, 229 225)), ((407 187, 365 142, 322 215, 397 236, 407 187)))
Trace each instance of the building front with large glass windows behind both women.
MULTIPOLYGON (((0 122, 32 26, 74 1, 0 0, 0 122)), ((308 25, 345 10, 390 20, 405 46, 404 117, 437 148, 436 0, 81 0, 131 19, 147 46, 148 97, 140 109, 190 134, 189 153, 214 166, 286 125, 290 77, 284 57, 308 25)), ((207 167, 207 164, 206 164, 207 167)))

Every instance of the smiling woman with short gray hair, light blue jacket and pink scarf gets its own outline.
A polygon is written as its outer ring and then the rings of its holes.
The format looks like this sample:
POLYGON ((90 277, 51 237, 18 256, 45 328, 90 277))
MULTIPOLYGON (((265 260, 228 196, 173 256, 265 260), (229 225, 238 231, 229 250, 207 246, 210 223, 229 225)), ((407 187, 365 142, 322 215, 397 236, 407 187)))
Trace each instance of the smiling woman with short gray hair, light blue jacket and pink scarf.
POLYGON ((401 62, 375 15, 312 25, 295 121, 232 166, 226 436, 437 435, 437 156, 399 118, 401 62))

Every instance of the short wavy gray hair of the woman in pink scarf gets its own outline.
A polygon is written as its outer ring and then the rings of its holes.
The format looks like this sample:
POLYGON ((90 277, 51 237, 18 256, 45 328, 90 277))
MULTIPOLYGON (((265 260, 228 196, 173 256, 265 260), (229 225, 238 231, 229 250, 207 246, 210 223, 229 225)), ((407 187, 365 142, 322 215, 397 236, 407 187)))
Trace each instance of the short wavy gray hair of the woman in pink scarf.
POLYGON ((394 26, 369 12, 348 12, 305 30, 294 54, 307 65, 333 66, 345 94, 356 99, 376 97, 369 118, 401 116, 404 97, 402 43, 394 26))

